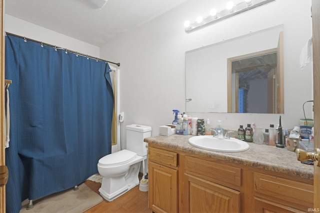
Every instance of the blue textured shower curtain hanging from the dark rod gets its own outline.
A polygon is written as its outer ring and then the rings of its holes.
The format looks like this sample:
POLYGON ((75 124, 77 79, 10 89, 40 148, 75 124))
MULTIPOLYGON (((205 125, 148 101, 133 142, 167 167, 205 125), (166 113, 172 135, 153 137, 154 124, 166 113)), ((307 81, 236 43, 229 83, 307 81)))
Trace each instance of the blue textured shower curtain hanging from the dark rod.
POLYGON ((110 71, 104 61, 5 36, 7 213, 97 173, 99 158, 111 153, 110 71))

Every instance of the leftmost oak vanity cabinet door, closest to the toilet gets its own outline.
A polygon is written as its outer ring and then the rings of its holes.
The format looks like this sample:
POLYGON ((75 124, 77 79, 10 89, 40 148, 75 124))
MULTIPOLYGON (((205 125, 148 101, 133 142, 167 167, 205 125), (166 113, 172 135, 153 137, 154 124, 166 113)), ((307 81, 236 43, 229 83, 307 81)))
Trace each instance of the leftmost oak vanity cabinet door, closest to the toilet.
POLYGON ((177 170, 149 162, 149 209, 155 213, 177 213, 177 170))

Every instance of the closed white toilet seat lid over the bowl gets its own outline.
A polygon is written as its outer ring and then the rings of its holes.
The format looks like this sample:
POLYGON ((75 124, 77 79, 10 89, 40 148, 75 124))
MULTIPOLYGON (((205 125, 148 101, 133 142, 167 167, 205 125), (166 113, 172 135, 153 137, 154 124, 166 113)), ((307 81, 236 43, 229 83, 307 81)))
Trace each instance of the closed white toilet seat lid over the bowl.
POLYGON ((135 156, 136 153, 134 152, 131 152, 129 150, 121 150, 100 158, 99 164, 105 166, 118 166, 132 161, 135 156))

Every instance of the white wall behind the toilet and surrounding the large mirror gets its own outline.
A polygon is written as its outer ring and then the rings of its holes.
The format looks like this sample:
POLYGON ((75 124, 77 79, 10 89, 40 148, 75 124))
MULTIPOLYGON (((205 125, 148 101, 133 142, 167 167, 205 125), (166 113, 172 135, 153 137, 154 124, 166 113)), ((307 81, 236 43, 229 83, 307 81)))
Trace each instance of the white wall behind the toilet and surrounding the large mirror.
MULTIPOLYGON (((185 33, 183 22, 208 15, 212 0, 188 0, 178 7, 120 36, 100 48, 101 57, 121 63, 120 110, 125 125, 132 123, 152 127, 174 119, 172 109, 185 110, 185 51, 199 48, 283 24, 284 39, 284 114, 282 126, 292 128, 303 117, 302 104, 312 100, 312 71, 308 65, 299 69, 299 55, 311 36, 311 0, 275 0, 201 30, 185 33), (112 49, 112 51, 110 51, 112 49)), ((216 91, 219 92, 219 91, 216 91)), ((305 104, 306 116, 312 117, 311 103, 305 104)), ((278 123, 277 114, 194 113, 209 118, 211 125, 221 120, 227 128, 255 122, 268 127, 278 123)), ((125 142, 124 142, 125 143, 125 142)))

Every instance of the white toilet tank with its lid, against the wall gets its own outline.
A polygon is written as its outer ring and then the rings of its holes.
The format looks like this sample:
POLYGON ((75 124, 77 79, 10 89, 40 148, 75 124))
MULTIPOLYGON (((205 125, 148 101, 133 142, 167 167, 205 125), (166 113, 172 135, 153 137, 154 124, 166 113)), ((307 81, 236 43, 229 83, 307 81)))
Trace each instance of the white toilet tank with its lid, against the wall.
POLYGON ((126 126, 126 150, 135 152, 139 156, 146 156, 144 138, 151 137, 151 127, 131 124, 126 126))

